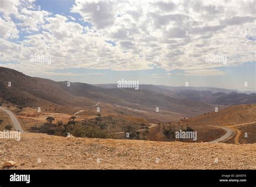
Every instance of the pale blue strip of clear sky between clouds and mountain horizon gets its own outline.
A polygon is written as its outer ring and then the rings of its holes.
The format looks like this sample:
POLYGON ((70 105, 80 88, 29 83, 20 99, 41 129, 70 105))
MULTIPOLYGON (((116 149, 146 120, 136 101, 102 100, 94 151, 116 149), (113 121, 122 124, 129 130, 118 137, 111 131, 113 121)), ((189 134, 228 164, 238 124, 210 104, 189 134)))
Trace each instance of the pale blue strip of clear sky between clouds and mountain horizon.
MULTIPOLYGON (((238 89, 240 91, 250 91, 255 88, 255 63, 245 63, 243 66, 217 68, 225 71, 223 76, 186 76, 184 70, 165 69, 133 70, 133 71, 113 71, 111 69, 86 69, 70 68, 56 70, 57 73, 72 73, 77 76, 45 76, 56 81, 84 82, 89 84, 117 83, 122 80, 139 80, 142 84, 157 84, 170 86, 184 86, 188 82, 191 87, 217 87, 227 89, 238 89), (248 87, 244 89, 240 85, 248 82, 248 87)), ((254 89, 255 90, 255 89, 254 89)))

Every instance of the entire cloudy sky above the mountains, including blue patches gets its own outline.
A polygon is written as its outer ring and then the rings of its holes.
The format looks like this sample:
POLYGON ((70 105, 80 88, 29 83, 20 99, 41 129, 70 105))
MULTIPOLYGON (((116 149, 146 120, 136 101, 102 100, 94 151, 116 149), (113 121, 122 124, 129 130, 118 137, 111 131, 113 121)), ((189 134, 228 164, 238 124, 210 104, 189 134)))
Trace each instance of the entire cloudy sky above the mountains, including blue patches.
POLYGON ((0 0, 0 66, 56 81, 255 91, 255 7, 254 0, 0 0))

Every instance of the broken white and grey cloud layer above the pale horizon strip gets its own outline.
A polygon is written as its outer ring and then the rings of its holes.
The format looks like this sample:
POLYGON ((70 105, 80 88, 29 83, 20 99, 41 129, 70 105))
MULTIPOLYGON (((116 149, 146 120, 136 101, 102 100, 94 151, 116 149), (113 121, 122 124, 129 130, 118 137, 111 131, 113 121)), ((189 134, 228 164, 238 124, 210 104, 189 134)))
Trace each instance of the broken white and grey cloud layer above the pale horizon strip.
POLYGON ((8 66, 24 72, 164 68, 207 76, 224 75, 214 68, 256 59, 253 0, 76 0, 70 12, 80 20, 38 10, 34 3, 2 0, 0 6, 0 61, 15 61, 8 66), (35 54, 51 55, 52 63, 31 63, 35 54), (225 55, 227 64, 206 63, 206 55, 225 55))

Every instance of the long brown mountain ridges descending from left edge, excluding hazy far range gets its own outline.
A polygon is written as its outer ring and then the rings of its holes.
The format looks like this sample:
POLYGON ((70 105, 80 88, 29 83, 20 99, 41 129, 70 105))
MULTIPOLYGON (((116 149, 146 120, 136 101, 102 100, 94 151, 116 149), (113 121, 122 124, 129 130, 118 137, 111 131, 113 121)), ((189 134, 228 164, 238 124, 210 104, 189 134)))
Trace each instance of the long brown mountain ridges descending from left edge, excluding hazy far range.
MULTIPOLYGON (((91 106, 97 102, 132 107, 156 113, 161 111, 177 113, 178 116, 195 116, 214 110, 214 106, 197 100, 174 98, 154 89, 105 89, 86 83, 55 82, 45 78, 30 77, 16 70, 0 67, 0 97, 22 106, 48 107, 62 112, 76 106, 91 106), (8 83, 11 87, 8 87, 8 83), (157 92, 158 91, 158 92, 157 92)), ((151 86, 151 89, 153 87, 151 86)), ((162 89, 162 91, 166 91, 162 89)), ((167 114, 167 113, 166 113, 167 114)), ((139 113, 136 115, 140 115, 139 113)))

